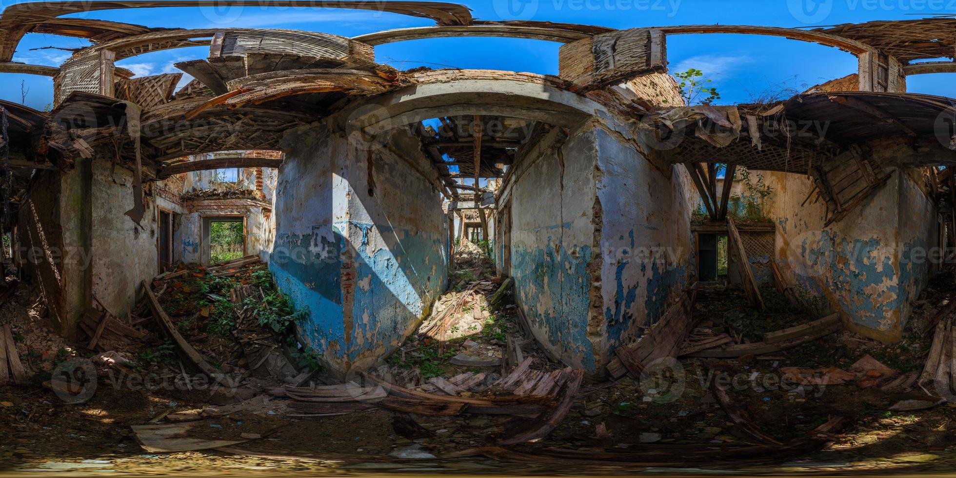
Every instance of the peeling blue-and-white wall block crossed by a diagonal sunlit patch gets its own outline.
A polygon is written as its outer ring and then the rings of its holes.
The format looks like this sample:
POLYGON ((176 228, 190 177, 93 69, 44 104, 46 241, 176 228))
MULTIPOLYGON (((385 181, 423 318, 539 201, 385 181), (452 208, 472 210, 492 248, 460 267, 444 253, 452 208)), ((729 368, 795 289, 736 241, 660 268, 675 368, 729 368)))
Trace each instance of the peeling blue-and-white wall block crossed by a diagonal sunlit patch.
POLYGON ((410 140, 394 140, 402 157, 325 125, 285 141, 270 269, 294 306, 309 310, 303 336, 339 374, 395 350, 445 291, 437 172, 426 176, 434 169, 410 140))

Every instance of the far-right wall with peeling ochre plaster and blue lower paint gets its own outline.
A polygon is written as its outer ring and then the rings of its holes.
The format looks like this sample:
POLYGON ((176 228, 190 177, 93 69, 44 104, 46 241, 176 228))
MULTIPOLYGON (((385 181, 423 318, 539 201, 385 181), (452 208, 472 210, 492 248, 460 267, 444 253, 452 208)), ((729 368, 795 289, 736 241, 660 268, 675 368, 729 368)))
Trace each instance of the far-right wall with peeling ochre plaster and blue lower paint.
POLYGON ((809 177, 767 174, 768 211, 777 225, 784 273, 811 295, 825 297, 846 326, 866 337, 898 341, 911 302, 929 278, 916 250, 938 246, 935 206, 899 168, 847 217, 824 228, 825 206, 811 199, 809 177))

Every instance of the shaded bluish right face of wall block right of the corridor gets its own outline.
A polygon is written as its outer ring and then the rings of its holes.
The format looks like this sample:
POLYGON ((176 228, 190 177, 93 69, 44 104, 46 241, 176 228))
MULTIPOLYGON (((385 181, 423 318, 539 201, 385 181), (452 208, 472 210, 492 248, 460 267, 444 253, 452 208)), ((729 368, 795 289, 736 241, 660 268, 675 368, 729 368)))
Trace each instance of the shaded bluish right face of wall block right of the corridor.
POLYGON ((610 358, 656 323, 692 280, 690 216, 700 196, 683 166, 659 167, 603 129, 596 139, 606 331, 598 353, 610 358))

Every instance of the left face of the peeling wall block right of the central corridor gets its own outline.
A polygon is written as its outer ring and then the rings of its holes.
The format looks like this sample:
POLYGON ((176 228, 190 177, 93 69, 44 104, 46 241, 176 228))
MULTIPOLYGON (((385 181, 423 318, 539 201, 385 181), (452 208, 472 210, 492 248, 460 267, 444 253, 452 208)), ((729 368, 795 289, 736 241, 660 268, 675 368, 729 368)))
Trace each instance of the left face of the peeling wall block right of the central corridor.
POLYGON ((534 337, 553 357, 596 373, 602 315, 592 285, 596 250, 596 130, 554 132, 512 177, 511 275, 514 297, 534 337))

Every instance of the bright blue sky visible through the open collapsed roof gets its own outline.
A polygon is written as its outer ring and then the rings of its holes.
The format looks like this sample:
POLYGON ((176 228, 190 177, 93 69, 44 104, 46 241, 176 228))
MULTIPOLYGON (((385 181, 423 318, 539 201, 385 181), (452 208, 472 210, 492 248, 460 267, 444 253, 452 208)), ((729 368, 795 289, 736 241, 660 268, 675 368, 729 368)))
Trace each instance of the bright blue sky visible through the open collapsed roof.
MULTIPOLYGON (((3 4, 11 5, 10 1, 3 4)), ((471 0, 460 2, 478 19, 506 18, 582 23, 626 29, 663 25, 725 24, 803 27, 883 19, 912 19, 956 13, 956 0, 471 0), (511 2, 511 3, 509 3, 511 2)), ((428 26, 424 18, 339 9, 233 8, 96 11, 72 16, 135 23, 148 27, 271 28, 355 36, 381 30, 428 26)), ((32 33, 21 42, 14 61, 58 65, 69 56, 41 47, 80 48, 78 38, 32 33)), ((377 59, 400 69, 428 66, 513 70, 557 74, 558 44, 505 38, 446 38, 383 45, 377 59)), ((787 97, 817 83, 856 72, 852 54, 785 38, 686 34, 668 36, 671 72, 696 68, 713 80, 719 103, 787 97)), ((173 63, 205 58, 207 47, 143 54, 118 64, 137 75, 178 72, 173 63)), ((914 93, 956 97, 947 75, 910 76, 914 93)), ((0 98, 21 100, 43 109, 53 98, 50 78, 0 75, 0 98)))

